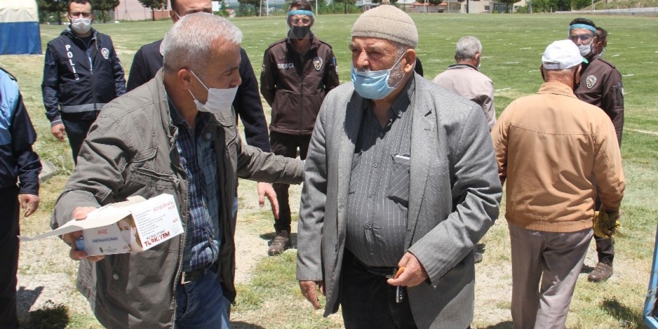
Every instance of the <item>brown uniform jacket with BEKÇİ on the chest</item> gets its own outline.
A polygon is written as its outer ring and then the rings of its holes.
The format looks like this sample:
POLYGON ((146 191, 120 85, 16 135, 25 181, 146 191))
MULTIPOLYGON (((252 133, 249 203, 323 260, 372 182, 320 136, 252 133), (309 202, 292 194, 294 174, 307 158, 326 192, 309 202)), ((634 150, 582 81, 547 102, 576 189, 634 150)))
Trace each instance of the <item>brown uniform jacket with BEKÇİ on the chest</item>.
POLYGON ((331 46, 313 35, 311 38, 311 47, 303 55, 288 38, 272 43, 265 51, 261 93, 272 107, 272 132, 311 135, 324 95, 339 84, 331 46))

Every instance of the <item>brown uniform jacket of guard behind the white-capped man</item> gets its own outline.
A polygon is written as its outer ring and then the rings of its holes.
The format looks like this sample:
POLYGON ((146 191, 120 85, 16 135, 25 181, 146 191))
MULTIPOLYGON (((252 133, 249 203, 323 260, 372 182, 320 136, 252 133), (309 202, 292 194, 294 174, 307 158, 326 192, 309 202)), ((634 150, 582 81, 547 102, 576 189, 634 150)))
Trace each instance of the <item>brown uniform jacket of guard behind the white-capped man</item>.
POLYGON ((621 74, 615 65, 597 56, 590 59, 589 64, 582 64, 576 97, 608 114, 615 126, 617 142, 621 146, 621 132, 624 129, 624 87, 621 84, 621 74))

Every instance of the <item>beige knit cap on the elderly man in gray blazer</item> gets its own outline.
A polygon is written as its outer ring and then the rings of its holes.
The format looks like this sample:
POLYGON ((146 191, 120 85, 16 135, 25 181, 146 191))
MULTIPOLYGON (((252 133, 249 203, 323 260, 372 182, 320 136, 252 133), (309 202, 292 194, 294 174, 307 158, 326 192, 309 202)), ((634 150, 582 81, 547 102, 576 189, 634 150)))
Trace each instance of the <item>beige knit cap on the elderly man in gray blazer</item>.
POLYGON ((416 48, 418 30, 409 15, 392 5, 380 5, 359 16, 352 27, 352 38, 378 38, 416 48))

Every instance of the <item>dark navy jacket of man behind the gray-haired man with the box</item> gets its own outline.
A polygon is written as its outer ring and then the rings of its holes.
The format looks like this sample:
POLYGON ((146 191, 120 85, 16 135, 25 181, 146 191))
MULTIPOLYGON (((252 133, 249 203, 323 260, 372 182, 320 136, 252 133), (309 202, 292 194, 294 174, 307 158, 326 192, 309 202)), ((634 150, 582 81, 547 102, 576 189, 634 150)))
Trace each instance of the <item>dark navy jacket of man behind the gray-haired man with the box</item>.
MULTIPOLYGON (((130 74, 128 74, 128 91, 138 88, 153 79, 158 70, 163 67, 163 56, 160 54, 162 42, 162 40, 158 40, 143 45, 135 53, 130 67, 130 74)), ((242 83, 238 87, 233 107, 245 127, 247 144, 258 147, 265 152, 270 152, 267 122, 263 113, 261 95, 258 93, 258 81, 253 73, 247 52, 242 48, 240 48, 240 57, 239 70, 242 83)))

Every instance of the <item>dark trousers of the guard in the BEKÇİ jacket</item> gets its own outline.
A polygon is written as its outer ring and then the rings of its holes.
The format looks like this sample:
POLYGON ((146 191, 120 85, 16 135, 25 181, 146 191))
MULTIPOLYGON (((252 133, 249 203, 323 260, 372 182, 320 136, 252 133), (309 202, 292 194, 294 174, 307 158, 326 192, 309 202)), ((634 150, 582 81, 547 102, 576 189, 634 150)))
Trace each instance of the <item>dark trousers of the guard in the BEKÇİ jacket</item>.
MULTIPOLYGON (((270 146, 272 147, 272 153, 276 155, 296 158, 297 149, 299 149, 299 157, 304 160, 309 152, 310 142, 311 136, 270 132, 270 146)), ((276 232, 286 230, 290 233, 290 203, 288 201, 290 184, 272 184, 272 188, 274 188, 276 199, 279 201, 279 219, 274 221, 274 230, 276 232)))

